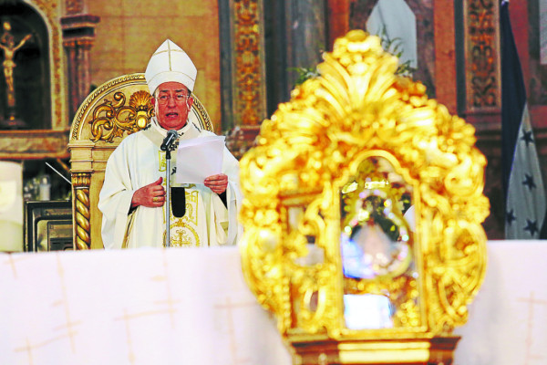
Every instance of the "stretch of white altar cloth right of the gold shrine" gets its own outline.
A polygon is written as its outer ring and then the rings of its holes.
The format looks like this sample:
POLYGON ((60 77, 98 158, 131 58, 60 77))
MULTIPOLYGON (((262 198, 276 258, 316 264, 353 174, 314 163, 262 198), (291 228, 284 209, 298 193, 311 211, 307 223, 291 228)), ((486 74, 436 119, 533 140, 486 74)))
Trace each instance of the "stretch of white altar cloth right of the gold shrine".
POLYGON ((454 365, 547 364, 547 241, 489 241, 454 365))

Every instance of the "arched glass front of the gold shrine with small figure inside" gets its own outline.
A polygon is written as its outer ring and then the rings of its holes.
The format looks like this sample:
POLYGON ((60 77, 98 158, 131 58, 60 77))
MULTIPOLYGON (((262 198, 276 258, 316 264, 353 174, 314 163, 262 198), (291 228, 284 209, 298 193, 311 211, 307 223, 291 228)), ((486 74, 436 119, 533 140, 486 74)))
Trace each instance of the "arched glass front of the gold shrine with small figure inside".
POLYGON ((356 162, 340 191, 346 328, 416 327, 421 315, 412 186, 385 157, 356 162))

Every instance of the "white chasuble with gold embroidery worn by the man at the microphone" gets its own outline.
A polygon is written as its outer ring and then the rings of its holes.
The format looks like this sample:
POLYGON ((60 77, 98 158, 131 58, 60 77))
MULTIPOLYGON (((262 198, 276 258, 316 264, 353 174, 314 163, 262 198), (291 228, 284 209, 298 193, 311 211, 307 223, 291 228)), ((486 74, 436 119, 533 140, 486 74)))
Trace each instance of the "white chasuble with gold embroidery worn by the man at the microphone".
MULTIPOLYGON (((188 123, 179 130, 179 141, 211 136, 188 123)), ((120 142, 108 159, 105 183, 99 194, 98 209, 102 212, 102 239, 105 248, 163 246, 165 242, 165 209, 139 206, 130 209, 133 193, 163 178, 165 187, 165 152, 160 151, 166 130, 156 120, 147 130, 129 135, 120 142)), ((171 246, 235 245, 243 235, 237 213, 241 204, 239 162, 224 148, 222 173, 228 176, 227 207, 218 194, 204 184, 181 185, 175 182, 176 151, 171 152, 171 186, 185 187, 186 213, 177 218, 170 214, 171 246)))

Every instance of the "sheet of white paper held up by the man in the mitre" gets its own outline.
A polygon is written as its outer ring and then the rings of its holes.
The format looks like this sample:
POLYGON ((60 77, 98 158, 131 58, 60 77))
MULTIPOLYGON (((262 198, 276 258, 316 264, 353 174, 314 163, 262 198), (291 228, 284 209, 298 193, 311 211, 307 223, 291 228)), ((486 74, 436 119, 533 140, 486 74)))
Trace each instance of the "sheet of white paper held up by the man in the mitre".
POLYGON ((181 141, 177 149, 176 183, 203 183, 206 177, 222 172, 223 136, 181 141))

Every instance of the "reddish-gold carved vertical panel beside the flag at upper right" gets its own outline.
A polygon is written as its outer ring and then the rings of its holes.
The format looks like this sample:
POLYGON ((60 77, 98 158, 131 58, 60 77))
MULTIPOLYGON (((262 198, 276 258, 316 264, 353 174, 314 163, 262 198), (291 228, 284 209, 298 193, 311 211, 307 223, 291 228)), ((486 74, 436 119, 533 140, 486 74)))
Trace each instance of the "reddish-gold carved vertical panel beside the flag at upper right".
POLYGON ((500 108, 499 1, 466 2, 467 103, 469 110, 500 108))

